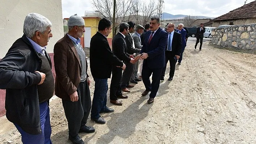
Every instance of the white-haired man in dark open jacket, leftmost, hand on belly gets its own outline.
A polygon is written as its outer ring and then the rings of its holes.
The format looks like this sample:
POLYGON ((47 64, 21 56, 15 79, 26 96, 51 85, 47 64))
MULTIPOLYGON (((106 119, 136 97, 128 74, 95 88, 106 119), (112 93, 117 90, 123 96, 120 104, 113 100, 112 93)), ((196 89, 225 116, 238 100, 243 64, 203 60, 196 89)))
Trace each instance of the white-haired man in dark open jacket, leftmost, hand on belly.
POLYGON ((46 52, 51 26, 46 17, 28 14, 24 35, 0 61, 6 117, 16 126, 24 144, 52 144, 49 99, 54 93, 54 78, 46 52))

